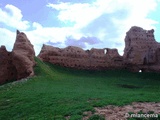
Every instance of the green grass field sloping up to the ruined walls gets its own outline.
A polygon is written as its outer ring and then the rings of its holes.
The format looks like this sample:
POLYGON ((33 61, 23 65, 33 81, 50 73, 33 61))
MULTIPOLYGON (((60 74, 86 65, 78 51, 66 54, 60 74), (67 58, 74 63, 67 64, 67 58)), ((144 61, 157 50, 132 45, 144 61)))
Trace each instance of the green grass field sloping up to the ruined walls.
POLYGON ((85 71, 36 62, 36 76, 0 87, 0 120, 80 120, 96 106, 160 102, 158 73, 85 71))

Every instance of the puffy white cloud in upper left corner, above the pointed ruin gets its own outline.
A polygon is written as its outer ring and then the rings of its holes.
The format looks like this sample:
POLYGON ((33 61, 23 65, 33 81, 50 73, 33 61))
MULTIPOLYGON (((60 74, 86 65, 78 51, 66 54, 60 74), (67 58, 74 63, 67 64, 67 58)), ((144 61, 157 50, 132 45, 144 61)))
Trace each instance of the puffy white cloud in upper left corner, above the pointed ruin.
POLYGON ((29 28, 29 22, 22 20, 22 18, 21 10, 13 5, 7 4, 4 10, 0 8, 0 22, 9 27, 20 30, 29 28))

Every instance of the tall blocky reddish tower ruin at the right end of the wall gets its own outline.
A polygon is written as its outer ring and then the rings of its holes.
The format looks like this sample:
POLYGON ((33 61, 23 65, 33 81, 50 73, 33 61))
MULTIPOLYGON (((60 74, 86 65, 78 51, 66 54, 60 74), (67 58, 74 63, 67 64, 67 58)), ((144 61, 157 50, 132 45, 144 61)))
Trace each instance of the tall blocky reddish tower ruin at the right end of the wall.
POLYGON ((160 44, 154 30, 132 27, 126 33, 123 57, 131 71, 160 71, 160 44))

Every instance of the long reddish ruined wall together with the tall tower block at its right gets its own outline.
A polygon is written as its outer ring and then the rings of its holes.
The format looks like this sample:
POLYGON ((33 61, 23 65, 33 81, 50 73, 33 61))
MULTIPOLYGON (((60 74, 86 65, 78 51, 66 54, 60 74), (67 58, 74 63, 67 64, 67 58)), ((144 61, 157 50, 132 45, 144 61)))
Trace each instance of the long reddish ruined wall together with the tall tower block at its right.
POLYGON ((160 72, 160 44, 154 39, 154 30, 133 26, 126 33, 124 55, 117 49, 84 51, 69 46, 64 49, 43 45, 38 57, 46 62, 78 69, 129 69, 130 71, 160 72))

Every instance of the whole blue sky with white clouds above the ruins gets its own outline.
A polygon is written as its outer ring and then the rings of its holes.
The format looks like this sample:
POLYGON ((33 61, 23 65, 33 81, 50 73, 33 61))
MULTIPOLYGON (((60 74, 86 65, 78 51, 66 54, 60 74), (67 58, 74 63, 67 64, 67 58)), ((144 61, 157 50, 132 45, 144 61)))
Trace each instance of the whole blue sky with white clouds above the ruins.
POLYGON ((160 42, 160 0, 0 0, 0 46, 12 51, 16 30, 36 55, 43 44, 65 48, 117 48, 132 26, 155 30, 160 42))

